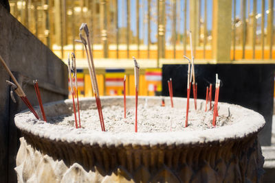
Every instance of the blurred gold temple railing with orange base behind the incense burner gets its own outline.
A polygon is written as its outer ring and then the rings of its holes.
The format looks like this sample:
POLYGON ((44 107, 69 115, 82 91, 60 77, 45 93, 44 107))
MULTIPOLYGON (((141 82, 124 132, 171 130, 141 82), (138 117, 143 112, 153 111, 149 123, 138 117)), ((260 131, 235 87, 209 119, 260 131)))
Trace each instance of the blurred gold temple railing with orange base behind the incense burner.
POLYGON ((10 0, 10 8, 61 58, 85 58, 74 42, 83 22, 95 58, 182 59, 190 56, 189 29, 197 60, 275 58, 274 0, 10 0))

